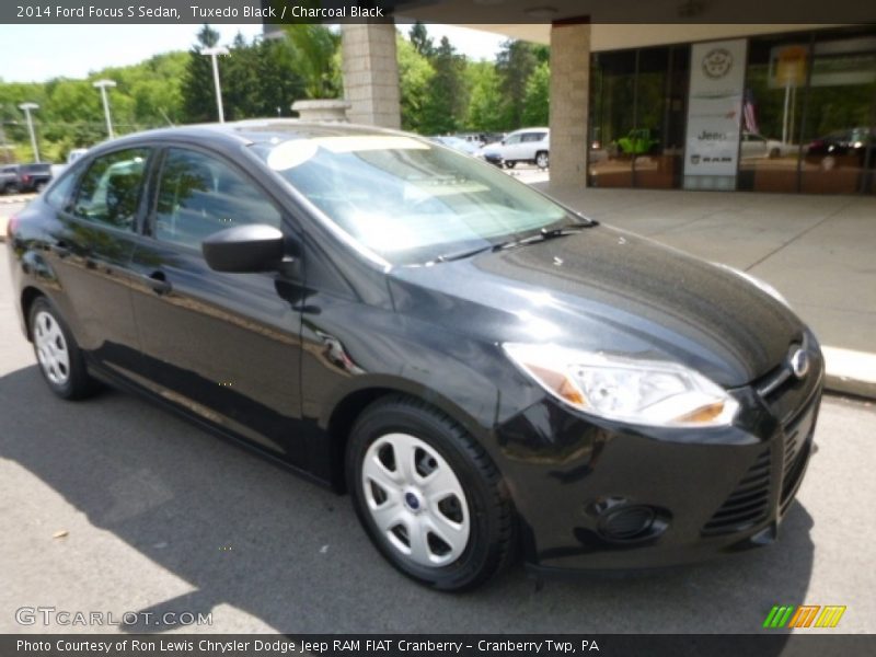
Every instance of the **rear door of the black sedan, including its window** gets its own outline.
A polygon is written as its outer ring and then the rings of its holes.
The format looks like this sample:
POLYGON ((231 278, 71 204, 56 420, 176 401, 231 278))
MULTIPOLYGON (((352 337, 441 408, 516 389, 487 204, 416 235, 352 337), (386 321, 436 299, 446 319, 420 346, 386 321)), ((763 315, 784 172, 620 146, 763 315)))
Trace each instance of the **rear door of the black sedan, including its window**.
POLYGON ((50 229, 62 312, 88 357, 131 376, 140 368, 131 309, 130 265, 150 151, 128 148, 96 158, 50 229))

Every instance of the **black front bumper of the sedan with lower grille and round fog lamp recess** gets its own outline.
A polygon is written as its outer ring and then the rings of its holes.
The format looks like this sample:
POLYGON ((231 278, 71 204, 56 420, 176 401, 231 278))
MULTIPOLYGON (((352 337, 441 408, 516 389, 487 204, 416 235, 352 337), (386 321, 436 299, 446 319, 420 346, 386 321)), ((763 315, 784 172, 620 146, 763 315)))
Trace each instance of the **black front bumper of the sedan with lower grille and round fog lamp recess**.
POLYGON ((810 344, 803 380, 733 391, 731 427, 597 422, 550 397, 504 424, 502 470, 529 565, 664 567, 773 542, 812 451, 823 360, 810 344))

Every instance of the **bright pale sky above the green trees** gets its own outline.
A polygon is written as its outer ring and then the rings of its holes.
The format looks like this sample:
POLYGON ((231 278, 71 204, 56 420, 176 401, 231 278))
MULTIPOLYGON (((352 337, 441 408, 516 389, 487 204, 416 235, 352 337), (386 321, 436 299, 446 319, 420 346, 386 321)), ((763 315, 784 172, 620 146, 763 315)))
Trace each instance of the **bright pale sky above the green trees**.
MULTIPOLYGON (((221 44, 238 31, 247 38, 262 25, 214 25, 221 44)), ((0 80, 43 82, 50 78, 85 78, 106 66, 126 66, 159 53, 187 50, 199 25, 0 25, 0 80)), ((407 25, 400 25, 405 33, 407 25)), ((456 48, 472 59, 493 59, 504 37, 456 27, 429 25, 436 43, 447 35, 456 48)))

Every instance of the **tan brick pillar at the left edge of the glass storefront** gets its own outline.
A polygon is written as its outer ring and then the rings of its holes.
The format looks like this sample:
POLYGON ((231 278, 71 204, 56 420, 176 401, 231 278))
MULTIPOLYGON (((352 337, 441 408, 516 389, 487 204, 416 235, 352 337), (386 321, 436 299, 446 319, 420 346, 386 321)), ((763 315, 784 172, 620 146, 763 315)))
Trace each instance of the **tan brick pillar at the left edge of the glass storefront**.
POLYGON ((587 186, 590 23, 551 27, 551 187, 587 186))

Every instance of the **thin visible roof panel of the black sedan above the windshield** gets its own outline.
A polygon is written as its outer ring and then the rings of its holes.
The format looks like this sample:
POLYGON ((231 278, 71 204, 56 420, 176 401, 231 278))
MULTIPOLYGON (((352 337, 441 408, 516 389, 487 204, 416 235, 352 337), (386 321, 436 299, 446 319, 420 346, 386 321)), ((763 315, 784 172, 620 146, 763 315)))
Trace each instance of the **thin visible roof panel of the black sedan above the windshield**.
POLYGON ((196 124, 146 130, 105 141, 99 149, 116 148, 126 143, 142 145, 162 140, 212 140, 227 146, 250 146, 272 143, 290 139, 312 139, 318 137, 342 137, 361 135, 401 135, 397 130, 376 128, 348 123, 303 122, 290 118, 247 119, 224 124, 196 124))

